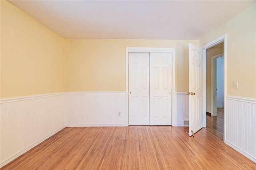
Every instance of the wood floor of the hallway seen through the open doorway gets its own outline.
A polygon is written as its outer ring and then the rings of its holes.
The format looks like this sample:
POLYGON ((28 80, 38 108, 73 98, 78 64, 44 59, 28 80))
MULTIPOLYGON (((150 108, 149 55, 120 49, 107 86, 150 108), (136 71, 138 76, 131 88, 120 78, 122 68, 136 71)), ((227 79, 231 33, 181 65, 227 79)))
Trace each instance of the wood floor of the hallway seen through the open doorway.
POLYGON ((223 141, 224 116, 223 108, 217 108, 217 116, 206 116, 206 130, 223 141))

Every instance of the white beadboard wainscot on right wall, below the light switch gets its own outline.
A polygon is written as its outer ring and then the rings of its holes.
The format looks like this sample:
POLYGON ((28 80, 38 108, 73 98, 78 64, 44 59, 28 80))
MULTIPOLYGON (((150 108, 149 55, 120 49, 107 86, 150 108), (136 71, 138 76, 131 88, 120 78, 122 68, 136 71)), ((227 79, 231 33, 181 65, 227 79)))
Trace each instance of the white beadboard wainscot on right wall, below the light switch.
POLYGON ((256 162, 256 99, 226 96, 225 143, 256 162))

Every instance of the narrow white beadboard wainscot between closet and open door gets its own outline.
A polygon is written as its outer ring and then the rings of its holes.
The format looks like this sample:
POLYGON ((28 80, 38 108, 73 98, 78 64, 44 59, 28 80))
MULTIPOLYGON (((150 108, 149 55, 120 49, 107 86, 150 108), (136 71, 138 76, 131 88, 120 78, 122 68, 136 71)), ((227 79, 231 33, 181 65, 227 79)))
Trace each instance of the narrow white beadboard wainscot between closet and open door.
POLYGON ((189 119, 188 115, 188 95, 187 92, 176 92, 176 115, 173 114, 172 126, 186 126, 184 120, 189 119))

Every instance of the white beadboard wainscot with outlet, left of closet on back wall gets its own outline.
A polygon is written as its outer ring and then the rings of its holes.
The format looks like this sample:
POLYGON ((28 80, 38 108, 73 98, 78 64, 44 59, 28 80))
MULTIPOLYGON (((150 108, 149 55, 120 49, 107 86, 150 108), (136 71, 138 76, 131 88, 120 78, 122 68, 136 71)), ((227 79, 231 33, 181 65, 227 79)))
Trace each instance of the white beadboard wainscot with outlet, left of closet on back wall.
POLYGON ((66 126, 128 126, 126 92, 67 92, 66 126))

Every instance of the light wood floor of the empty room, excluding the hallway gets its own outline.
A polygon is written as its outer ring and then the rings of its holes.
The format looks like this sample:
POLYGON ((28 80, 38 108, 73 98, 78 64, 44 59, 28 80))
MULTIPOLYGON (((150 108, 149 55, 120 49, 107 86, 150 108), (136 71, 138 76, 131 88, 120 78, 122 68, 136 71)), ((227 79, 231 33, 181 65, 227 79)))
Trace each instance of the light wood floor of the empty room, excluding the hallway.
POLYGON ((1 170, 253 170, 256 164, 201 129, 66 127, 1 170))

